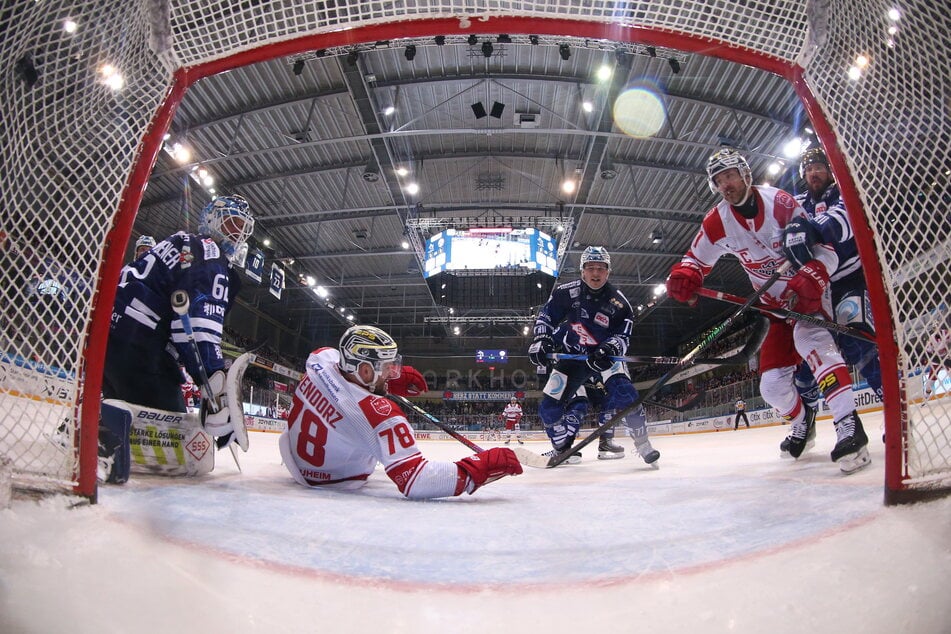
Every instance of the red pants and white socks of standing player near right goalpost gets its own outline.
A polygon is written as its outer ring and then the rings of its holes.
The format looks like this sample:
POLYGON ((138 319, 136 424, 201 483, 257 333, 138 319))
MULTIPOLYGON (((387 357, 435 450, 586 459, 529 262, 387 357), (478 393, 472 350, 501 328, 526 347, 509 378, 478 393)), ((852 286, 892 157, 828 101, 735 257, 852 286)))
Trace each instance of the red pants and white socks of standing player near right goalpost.
POLYGON ((770 320, 769 332, 760 350, 760 394, 780 416, 800 422, 803 402, 796 391, 794 373, 805 359, 816 377, 819 390, 840 420, 855 409, 852 380, 835 340, 821 326, 778 319, 770 320))

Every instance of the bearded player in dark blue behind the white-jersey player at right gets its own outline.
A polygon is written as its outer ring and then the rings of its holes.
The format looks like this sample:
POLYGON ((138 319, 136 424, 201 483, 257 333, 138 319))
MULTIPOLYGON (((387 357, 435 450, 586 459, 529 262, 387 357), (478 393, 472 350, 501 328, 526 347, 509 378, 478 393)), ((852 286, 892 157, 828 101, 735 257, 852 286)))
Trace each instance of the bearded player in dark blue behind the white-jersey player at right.
MULTIPOLYGON (((855 235, 842 204, 839 186, 822 148, 810 148, 802 154, 799 175, 806 183, 806 191, 796 196, 796 200, 810 218, 796 218, 786 226, 783 253, 794 267, 799 268, 812 259, 815 245, 833 247, 839 258, 836 270, 829 276, 835 319, 840 324, 874 335, 868 287, 855 235)), ((875 344, 843 335, 834 335, 834 338, 846 363, 858 369, 869 387, 881 398, 882 372, 875 344)), ((814 444, 819 388, 805 363, 800 364, 796 372, 796 386, 811 417, 806 445, 808 449, 814 444)), ((780 449, 787 452, 787 448, 782 445, 780 449)))

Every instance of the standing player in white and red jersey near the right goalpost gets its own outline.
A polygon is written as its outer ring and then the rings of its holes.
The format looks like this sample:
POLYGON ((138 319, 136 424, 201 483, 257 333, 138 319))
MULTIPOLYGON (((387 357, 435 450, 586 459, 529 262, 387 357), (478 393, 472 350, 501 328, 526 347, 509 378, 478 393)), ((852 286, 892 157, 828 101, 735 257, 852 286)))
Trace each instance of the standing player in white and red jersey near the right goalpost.
MULTIPOLYGON (((671 268, 667 293, 693 304, 704 277, 724 254, 732 254, 746 270, 754 289, 785 262, 783 229, 793 218, 806 217, 793 196, 769 186, 753 186, 749 164, 736 150, 723 149, 707 161, 711 191, 722 200, 703 219, 690 250, 671 268)), ((816 244, 813 259, 795 274, 784 274, 762 301, 806 314, 832 315, 829 274, 838 257, 825 244, 816 244)), ((828 330, 803 322, 771 319, 760 350, 760 393, 776 411, 792 422, 781 449, 794 458, 814 444, 815 428, 805 416, 793 374, 805 360, 823 392, 835 419, 836 445, 832 460, 845 473, 868 465, 868 437, 855 412, 852 380, 842 354, 828 330)))

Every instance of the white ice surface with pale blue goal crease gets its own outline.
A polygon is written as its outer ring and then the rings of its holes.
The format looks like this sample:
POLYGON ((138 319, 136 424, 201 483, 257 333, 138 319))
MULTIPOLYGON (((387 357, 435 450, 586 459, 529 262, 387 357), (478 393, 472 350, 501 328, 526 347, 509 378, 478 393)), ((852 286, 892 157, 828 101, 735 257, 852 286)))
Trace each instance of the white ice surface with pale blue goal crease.
POLYGON ((785 426, 658 437, 658 470, 625 438, 623 460, 589 447, 423 502, 380 470, 305 489, 252 433, 243 473, 219 452, 204 478, 0 511, 0 632, 947 634, 951 499, 884 507, 880 414, 863 420, 873 463, 852 476, 820 421, 798 461, 785 426))

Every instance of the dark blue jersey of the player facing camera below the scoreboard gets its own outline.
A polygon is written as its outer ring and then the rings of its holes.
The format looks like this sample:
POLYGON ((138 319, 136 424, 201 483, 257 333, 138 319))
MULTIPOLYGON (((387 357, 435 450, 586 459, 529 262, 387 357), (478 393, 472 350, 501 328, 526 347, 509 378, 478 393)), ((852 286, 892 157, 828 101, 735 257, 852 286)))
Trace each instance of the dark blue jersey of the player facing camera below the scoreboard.
POLYGON ((630 302, 610 282, 592 292, 579 279, 555 287, 538 312, 534 334, 551 336, 555 346, 569 354, 587 354, 611 339, 624 355, 633 315, 630 302))

